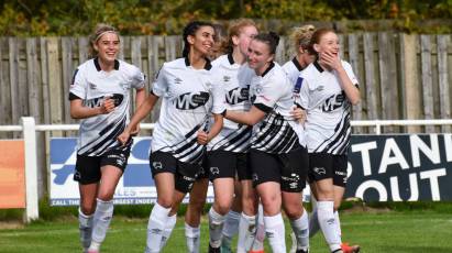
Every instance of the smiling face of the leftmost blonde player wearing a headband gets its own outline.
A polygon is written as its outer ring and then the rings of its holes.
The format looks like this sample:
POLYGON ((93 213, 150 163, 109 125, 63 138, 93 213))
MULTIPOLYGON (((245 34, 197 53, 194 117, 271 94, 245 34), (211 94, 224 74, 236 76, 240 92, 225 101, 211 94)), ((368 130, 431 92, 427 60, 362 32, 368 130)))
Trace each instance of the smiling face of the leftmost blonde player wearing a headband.
POLYGON ((98 57, 106 64, 114 63, 120 47, 119 36, 114 32, 107 32, 95 43, 98 57))

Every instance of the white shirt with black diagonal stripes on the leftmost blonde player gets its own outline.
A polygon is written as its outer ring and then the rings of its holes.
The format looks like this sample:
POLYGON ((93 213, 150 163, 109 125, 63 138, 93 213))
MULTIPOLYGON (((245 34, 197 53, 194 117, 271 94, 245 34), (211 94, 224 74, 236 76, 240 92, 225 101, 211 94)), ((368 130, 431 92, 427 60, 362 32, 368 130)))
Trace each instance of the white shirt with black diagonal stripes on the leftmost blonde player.
MULTIPOLYGON (((144 74, 122 61, 114 62, 114 69, 103 72, 98 58, 77 67, 69 89, 69 99, 81 99, 86 107, 99 107, 106 97, 114 99, 115 108, 80 121, 77 154, 100 156, 111 148, 121 148, 117 136, 129 123, 130 89, 144 87, 144 74)), ((126 148, 126 147, 124 147, 126 148)))

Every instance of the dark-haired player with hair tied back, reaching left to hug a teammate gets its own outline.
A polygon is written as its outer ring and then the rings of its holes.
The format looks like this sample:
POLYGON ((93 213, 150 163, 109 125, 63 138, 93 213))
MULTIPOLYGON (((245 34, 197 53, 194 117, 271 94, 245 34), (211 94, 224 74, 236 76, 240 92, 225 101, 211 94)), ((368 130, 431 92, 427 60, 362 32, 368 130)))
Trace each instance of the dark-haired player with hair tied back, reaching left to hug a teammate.
POLYGON ((250 43, 247 63, 254 69, 250 111, 225 110, 234 122, 253 127, 249 153, 253 185, 264 209, 265 233, 273 252, 286 252, 282 204, 301 233, 301 191, 308 167, 302 127, 291 116, 293 86, 283 68, 274 62, 279 36, 258 34, 250 43))

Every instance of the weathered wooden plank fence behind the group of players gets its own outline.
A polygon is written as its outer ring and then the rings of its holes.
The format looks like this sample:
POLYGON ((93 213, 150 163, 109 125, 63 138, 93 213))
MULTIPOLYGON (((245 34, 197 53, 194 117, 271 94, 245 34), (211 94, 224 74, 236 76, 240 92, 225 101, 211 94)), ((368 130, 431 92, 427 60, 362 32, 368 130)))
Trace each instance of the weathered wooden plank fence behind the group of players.
MULTIPOLYGON (((341 57, 360 80, 362 102, 354 120, 450 119, 452 88, 451 34, 341 34, 341 57)), ((124 36, 120 58, 150 77, 165 61, 180 55, 180 36, 124 36)), ((88 57, 87 37, 0 37, 0 124, 18 124, 22 116, 37 123, 74 123, 67 99, 75 68, 88 57)), ((283 37, 277 62, 291 58, 283 37)), ((146 119, 152 122, 158 110, 146 119)), ((356 133, 365 133, 365 128, 356 133)), ((384 132, 450 132, 441 128, 385 128, 384 132)))

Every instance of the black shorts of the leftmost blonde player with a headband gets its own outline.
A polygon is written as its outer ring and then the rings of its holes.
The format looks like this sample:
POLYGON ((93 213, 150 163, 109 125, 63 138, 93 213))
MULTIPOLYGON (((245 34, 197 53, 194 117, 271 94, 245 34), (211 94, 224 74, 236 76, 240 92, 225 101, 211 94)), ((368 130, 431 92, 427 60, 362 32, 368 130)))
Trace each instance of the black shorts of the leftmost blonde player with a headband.
POLYGON ((100 168, 106 165, 118 167, 124 173, 128 166, 130 147, 112 148, 101 156, 78 155, 74 173, 74 180, 80 185, 98 183, 102 176, 100 168))

